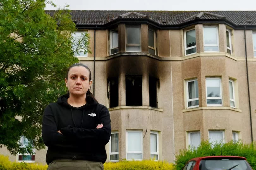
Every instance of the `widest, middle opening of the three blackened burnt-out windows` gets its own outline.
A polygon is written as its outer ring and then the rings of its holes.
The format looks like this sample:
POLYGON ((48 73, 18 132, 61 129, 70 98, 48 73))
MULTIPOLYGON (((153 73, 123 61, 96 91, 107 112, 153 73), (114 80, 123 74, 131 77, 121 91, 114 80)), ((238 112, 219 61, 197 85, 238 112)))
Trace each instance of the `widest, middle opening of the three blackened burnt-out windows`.
POLYGON ((126 106, 142 106, 142 76, 125 76, 126 106))

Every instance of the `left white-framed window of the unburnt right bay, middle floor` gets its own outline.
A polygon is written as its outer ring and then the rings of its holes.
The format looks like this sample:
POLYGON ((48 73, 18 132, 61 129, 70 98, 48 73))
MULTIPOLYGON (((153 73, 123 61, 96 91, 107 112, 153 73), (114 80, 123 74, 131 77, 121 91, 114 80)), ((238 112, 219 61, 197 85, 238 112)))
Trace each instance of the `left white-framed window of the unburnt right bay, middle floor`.
POLYGON ((199 107, 198 81, 187 80, 187 108, 199 107))

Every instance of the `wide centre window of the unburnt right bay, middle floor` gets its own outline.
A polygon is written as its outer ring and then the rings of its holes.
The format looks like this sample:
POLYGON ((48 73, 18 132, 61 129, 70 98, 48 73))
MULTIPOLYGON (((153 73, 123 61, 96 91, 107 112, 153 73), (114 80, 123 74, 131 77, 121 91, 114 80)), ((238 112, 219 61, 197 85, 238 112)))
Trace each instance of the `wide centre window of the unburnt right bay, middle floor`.
POLYGON ((222 90, 220 78, 206 78, 207 106, 222 106, 222 90))

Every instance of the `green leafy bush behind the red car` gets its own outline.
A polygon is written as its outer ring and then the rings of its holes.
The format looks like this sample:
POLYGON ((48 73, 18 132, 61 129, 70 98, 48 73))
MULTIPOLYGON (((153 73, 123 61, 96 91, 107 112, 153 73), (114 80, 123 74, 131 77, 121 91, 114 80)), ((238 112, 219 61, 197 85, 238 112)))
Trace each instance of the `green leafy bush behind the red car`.
POLYGON ((217 155, 246 157, 251 167, 256 169, 255 144, 243 144, 241 141, 236 143, 231 141, 226 144, 209 143, 208 141, 203 141, 197 149, 189 147, 188 150, 180 150, 180 154, 175 155, 175 168, 182 169, 186 162, 192 158, 217 155))

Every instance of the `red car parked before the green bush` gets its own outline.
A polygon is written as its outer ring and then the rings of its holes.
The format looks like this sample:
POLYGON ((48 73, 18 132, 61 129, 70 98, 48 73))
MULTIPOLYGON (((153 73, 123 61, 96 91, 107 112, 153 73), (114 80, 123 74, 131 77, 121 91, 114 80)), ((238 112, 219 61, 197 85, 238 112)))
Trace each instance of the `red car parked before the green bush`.
POLYGON ((182 170, 252 170, 245 157, 204 156, 189 160, 182 170))

